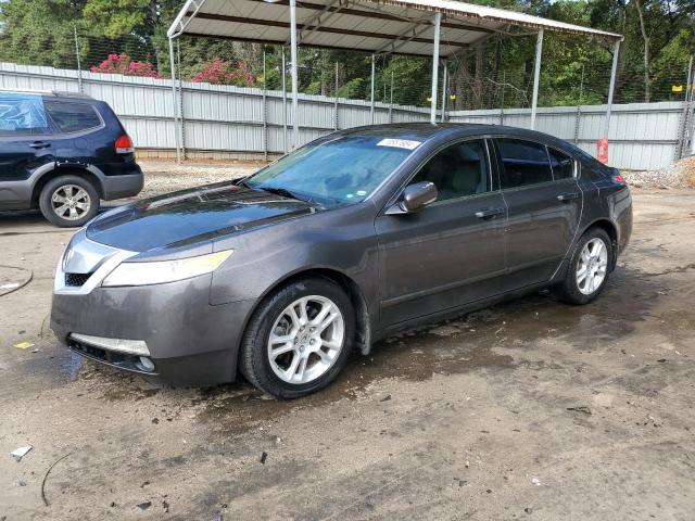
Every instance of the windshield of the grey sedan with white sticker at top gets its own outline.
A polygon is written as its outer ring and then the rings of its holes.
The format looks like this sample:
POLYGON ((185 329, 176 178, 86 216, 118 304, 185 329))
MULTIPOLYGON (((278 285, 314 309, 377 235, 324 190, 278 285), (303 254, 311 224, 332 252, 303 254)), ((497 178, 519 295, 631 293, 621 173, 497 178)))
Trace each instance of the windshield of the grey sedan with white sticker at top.
POLYGON ((244 185, 325 205, 358 203, 418 144, 371 136, 309 143, 260 170, 244 185))

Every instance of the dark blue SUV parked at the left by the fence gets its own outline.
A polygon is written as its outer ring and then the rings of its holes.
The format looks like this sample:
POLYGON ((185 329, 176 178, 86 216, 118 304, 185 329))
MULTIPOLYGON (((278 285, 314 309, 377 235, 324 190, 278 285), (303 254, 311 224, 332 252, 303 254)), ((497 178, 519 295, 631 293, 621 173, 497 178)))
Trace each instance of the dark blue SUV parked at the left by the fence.
POLYGON ((136 195, 132 141, 103 101, 76 93, 0 90, 0 209, 40 208, 81 226, 100 200, 136 195))

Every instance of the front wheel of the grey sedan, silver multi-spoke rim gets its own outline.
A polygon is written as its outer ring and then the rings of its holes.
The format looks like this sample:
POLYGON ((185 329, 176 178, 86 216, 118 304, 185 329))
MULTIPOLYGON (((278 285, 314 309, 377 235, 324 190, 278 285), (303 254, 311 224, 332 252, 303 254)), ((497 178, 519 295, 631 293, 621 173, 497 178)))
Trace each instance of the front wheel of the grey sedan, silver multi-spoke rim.
POLYGON ((261 391, 299 398, 336 379, 350 358, 354 335, 355 315, 345 292, 330 279, 301 279, 260 304, 242 338, 239 368, 261 391), (306 309, 304 316, 300 306, 306 309), (325 310, 328 315, 319 317, 325 310), (329 322, 325 329, 318 323, 321 318, 329 322), (270 350, 280 354, 274 357, 270 350))

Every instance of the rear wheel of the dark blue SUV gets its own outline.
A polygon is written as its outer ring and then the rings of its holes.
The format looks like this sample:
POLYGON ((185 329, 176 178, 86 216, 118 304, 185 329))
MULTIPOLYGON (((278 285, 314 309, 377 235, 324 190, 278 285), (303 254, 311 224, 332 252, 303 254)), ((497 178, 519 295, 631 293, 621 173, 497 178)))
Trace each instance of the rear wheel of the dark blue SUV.
POLYGON ((78 227, 99 212, 99 193, 87 179, 60 176, 48 181, 41 190, 39 207, 43 217, 55 226, 78 227))

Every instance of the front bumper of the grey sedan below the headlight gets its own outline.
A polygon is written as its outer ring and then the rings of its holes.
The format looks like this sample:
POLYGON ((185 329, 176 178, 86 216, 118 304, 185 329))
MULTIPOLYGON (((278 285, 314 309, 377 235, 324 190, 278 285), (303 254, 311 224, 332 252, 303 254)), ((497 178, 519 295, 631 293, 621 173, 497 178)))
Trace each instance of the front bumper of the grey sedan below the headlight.
POLYGON ((247 317, 255 301, 210 305, 212 276, 166 284, 54 293, 51 329, 83 356, 175 385, 229 382, 247 317), (138 340, 147 344, 152 371, 135 355, 77 342, 71 334, 138 340))

